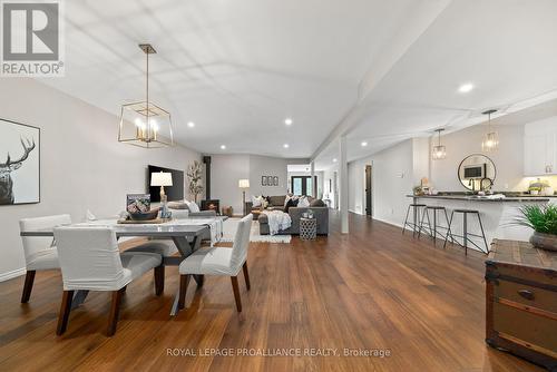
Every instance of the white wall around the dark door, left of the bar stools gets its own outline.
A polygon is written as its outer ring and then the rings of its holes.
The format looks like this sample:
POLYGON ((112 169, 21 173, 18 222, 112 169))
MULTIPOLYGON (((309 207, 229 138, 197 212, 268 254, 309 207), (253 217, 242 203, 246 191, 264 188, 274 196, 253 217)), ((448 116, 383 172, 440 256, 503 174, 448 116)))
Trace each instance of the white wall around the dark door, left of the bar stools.
POLYGON ((412 193, 414 185, 413 154, 419 147, 423 148, 420 141, 409 139, 350 163, 349 211, 364 214, 365 165, 371 165, 373 218, 395 225, 402 224, 408 203, 411 200, 405 195, 412 193))

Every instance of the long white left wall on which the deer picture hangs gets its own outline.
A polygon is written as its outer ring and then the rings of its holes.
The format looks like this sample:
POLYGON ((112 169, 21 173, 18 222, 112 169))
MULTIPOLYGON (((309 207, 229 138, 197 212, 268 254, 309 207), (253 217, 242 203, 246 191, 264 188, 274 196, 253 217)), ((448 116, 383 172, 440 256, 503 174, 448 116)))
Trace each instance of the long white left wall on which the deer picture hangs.
POLYGON ((41 128, 41 203, 0 206, 0 278, 25 267, 20 218, 69 213, 79 222, 87 209, 113 216, 125 209, 126 194, 146 190, 147 165, 185 170, 199 159, 179 146, 120 144, 116 116, 31 79, 1 79, 0 116, 41 128))

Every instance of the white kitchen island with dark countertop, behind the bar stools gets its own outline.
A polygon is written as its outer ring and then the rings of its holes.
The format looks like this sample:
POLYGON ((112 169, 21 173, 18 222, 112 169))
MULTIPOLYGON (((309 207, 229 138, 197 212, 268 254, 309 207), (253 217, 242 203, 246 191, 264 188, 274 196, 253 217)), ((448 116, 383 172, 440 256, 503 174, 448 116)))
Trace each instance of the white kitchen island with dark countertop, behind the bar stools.
MULTIPOLYGON (((507 196, 505 198, 481 197, 468 194, 447 193, 439 195, 408 195, 413 198, 416 204, 426 204, 430 206, 443 206, 447 214, 450 215, 453 209, 475 209, 480 213, 481 222, 486 233, 488 244, 494 238, 528 241, 531 229, 516 224, 516 218, 520 215, 519 208, 528 204, 548 204, 557 203, 557 198, 548 196, 507 196)), ((432 212, 431 212, 432 213, 432 212)), ((414 222, 419 222, 421 215, 414 215, 414 222)), ((443 215, 439 215, 438 225, 447 227, 443 215)), ((455 214, 451 231, 453 234, 462 235, 462 214, 455 214)), ((444 232, 442 229, 442 232, 444 232)), ((479 234, 480 226, 476 217, 468 218, 468 232, 479 234)), ((481 238, 470 237, 479 246, 483 246, 481 238)), ((459 242, 460 239, 457 238, 459 242)), ((476 249, 473 245, 469 248, 476 249)))

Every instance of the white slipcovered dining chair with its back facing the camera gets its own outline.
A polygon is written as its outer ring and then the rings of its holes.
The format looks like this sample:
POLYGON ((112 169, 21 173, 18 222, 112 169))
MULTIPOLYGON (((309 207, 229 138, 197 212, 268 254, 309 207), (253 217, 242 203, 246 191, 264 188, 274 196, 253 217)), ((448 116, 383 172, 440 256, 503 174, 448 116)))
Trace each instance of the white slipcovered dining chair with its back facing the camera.
POLYGON ((160 267, 160 255, 120 253, 115 231, 100 226, 57 227, 55 238, 63 282, 56 334, 66 332, 75 291, 104 291, 113 296, 107 335, 114 335, 126 286, 149 270, 160 267))

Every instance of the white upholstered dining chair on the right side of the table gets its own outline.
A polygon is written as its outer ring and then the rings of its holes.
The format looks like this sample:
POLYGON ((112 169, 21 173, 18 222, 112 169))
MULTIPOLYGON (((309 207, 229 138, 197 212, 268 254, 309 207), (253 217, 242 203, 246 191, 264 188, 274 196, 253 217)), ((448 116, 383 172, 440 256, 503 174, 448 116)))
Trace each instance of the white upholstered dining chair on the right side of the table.
POLYGON ((247 248, 250 246, 250 231, 253 215, 248 214, 242 218, 236 228, 232 248, 213 247, 202 248, 185 258, 179 267, 179 298, 178 309, 184 309, 186 290, 192 275, 225 275, 232 281, 236 310, 242 312, 242 301, 240 298, 238 273, 244 271, 244 280, 250 291, 250 274, 247 272, 247 248))

